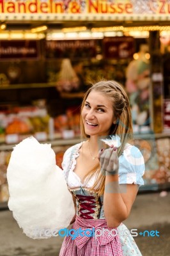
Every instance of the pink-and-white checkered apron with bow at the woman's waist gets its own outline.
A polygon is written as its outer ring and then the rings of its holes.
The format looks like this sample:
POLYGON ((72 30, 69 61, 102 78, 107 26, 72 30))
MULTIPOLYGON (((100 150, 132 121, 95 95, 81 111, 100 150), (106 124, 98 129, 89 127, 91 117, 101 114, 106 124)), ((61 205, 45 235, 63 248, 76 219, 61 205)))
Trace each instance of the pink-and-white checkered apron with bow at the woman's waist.
MULTIPOLYGON (((90 230, 107 228, 105 219, 85 220, 79 216, 76 217, 73 229, 90 230)), ((123 256, 121 249, 120 237, 118 235, 111 236, 108 232, 97 237, 77 236, 72 239, 71 236, 66 236, 61 246, 59 256, 123 256)))

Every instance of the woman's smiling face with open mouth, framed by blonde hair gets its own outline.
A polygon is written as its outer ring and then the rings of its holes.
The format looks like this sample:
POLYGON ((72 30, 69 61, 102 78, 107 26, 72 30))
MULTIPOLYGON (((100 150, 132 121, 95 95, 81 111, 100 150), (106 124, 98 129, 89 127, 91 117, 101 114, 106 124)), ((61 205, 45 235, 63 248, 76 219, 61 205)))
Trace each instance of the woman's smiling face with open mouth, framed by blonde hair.
POLYGON ((84 102, 81 115, 86 134, 108 135, 114 122, 112 100, 92 90, 84 102))

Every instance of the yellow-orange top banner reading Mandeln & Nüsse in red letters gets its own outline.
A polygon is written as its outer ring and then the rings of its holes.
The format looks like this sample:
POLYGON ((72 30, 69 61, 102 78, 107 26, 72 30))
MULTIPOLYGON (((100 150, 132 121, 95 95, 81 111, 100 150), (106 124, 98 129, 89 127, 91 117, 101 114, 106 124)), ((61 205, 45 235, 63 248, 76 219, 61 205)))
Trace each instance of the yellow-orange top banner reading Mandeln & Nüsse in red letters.
POLYGON ((0 13, 168 14, 169 0, 0 0, 0 13))

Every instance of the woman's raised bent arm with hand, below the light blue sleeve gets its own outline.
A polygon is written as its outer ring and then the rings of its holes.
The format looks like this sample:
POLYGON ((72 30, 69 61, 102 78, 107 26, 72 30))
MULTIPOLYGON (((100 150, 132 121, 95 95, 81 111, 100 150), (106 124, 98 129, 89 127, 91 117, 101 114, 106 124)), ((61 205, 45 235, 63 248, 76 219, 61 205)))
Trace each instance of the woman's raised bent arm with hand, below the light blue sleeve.
POLYGON ((116 148, 108 148, 105 152, 100 152, 100 165, 105 173, 105 219, 109 228, 116 228, 130 214, 138 185, 119 184, 119 159, 116 148))

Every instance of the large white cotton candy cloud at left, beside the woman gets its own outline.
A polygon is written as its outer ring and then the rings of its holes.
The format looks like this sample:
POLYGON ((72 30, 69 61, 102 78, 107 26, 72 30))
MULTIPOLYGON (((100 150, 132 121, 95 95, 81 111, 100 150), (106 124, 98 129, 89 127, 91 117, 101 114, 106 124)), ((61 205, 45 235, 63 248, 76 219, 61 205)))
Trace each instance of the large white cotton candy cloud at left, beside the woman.
POLYGON ((8 207, 23 232, 33 238, 56 236, 75 209, 50 144, 27 138, 14 147, 7 169, 8 207))

